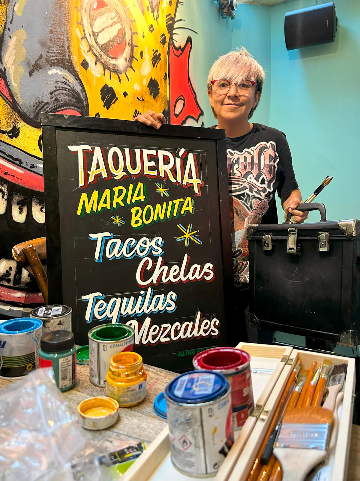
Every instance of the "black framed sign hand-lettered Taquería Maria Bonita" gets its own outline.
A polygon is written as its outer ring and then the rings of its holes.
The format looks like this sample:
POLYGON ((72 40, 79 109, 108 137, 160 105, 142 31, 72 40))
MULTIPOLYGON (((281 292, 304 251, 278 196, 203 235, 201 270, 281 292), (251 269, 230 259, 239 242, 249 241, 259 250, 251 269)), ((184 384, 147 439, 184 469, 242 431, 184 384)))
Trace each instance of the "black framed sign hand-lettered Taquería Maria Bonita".
POLYGON ((144 362, 226 344, 232 257, 224 131, 42 114, 49 303, 79 344, 135 329, 144 362))

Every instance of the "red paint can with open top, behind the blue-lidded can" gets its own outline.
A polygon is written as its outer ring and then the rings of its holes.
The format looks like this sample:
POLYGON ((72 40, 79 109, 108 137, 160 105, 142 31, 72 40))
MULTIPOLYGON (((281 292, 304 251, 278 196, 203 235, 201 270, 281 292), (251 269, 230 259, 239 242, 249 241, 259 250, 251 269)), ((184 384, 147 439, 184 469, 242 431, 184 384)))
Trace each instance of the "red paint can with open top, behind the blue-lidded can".
POLYGON ((241 429, 254 408, 250 354, 234 347, 215 347, 196 354, 192 364, 195 369, 224 374, 231 386, 234 429, 241 429))

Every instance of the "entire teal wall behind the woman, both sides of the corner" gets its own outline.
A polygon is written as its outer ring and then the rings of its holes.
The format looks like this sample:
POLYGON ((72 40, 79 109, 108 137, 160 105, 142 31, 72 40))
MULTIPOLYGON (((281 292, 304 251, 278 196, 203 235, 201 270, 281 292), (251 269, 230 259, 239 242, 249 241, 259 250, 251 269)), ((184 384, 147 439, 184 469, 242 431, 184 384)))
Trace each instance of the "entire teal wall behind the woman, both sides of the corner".
MULTIPOLYGON (((286 133, 304 199, 326 174, 334 176, 317 198, 330 220, 360 218, 360 0, 335 3, 335 42, 293 51, 285 46, 285 13, 313 6, 315 0, 288 0, 273 7, 240 4, 235 20, 222 19, 215 1, 184 0, 177 15, 182 28, 197 32, 177 30, 179 41, 193 38, 190 76, 204 111, 198 125, 215 123, 206 94, 212 63, 243 45, 266 71, 253 120, 286 133)), ((316 221, 318 215, 309 218, 316 221)))

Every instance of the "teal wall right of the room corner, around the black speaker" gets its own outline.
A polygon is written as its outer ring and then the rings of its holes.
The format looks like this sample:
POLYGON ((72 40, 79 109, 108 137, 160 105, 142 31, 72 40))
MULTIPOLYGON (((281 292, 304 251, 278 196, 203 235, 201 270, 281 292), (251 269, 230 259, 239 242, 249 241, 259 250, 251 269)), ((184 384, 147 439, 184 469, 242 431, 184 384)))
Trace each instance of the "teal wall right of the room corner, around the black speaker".
POLYGON ((287 135, 303 198, 330 174, 333 181, 317 198, 327 218, 360 218, 360 1, 335 1, 334 43, 287 51, 285 13, 313 5, 295 0, 269 8, 270 125, 287 135))

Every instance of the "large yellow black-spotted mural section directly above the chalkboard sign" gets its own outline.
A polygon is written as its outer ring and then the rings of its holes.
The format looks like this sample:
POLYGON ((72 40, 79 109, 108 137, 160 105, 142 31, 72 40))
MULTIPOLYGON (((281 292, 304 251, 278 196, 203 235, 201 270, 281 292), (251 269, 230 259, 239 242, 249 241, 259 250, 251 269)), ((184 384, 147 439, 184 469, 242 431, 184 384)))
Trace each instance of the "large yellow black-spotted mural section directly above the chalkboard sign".
POLYGON ((73 63, 78 66, 88 95, 89 115, 132 119, 135 111, 163 111, 168 100, 168 28, 171 31, 176 1, 160 0, 155 15, 148 0, 107 3, 107 16, 99 18, 89 12, 93 3, 85 1, 81 8, 81 1, 75 1, 70 25, 73 63), (111 52, 106 35, 109 43, 116 35, 123 39, 123 51, 120 45, 120 51, 111 52), (117 53, 120 60, 114 58, 117 53), (86 69, 81 67, 83 59, 88 64, 86 69), (102 100, 104 85, 114 90, 117 99, 108 108, 102 100))

